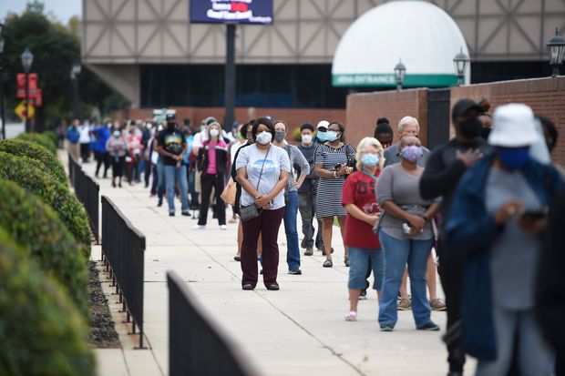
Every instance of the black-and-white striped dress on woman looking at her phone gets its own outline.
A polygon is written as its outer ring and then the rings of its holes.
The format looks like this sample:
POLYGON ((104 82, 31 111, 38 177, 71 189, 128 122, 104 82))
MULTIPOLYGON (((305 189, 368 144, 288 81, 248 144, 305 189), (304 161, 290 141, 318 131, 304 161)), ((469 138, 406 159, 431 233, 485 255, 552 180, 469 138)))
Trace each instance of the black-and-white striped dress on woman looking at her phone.
MULTIPOLYGON (((323 163, 324 169, 334 171, 338 163, 347 163, 355 158, 355 149, 351 145, 343 145, 339 148, 319 145, 314 152, 314 164, 323 163)), ((319 178, 316 196, 316 216, 318 218, 345 216, 345 208, 342 206, 342 188, 345 176, 337 178, 319 178)))

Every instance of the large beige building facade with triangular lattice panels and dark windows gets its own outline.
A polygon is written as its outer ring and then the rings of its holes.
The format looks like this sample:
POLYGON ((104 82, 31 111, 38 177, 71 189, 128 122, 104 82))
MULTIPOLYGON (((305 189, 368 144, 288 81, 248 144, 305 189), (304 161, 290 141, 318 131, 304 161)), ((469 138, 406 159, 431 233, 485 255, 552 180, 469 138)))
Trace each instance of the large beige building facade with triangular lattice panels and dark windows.
MULTIPOLYGON (((272 25, 237 26, 236 106, 344 107, 351 90, 332 86, 335 48, 385 2, 273 0, 272 25)), ((545 44, 565 27, 563 0, 427 2, 465 36, 472 82, 550 75, 545 44)), ((225 32, 190 24, 190 0, 83 0, 82 62, 132 107, 221 107, 225 32)))

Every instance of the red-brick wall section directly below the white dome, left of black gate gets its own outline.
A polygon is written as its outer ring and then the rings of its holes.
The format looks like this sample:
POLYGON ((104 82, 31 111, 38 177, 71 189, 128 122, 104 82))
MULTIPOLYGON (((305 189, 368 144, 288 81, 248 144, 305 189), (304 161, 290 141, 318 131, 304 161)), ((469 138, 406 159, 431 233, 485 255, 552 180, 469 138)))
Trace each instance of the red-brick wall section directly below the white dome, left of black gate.
POLYGON ((373 137, 378 117, 387 117, 395 131, 402 117, 416 117, 422 144, 427 143, 427 89, 359 93, 347 96, 345 137, 357 146, 361 138, 373 137))

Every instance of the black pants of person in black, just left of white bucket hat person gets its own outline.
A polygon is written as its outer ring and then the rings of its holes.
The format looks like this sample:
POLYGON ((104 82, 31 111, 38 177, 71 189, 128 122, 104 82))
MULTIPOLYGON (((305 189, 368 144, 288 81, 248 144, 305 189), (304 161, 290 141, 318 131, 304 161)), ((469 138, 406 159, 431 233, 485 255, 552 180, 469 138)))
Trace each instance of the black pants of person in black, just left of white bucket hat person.
MULTIPOLYGON (((439 268, 437 272, 441 286, 446 294, 447 330, 458 320, 461 320, 461 292, 463 282, 463 256, 457 249, 448 249, 445 241, 437 241, 437 257, 439 268)), ((449 371, 463 371, 465 353, 461 351, 460 339, 452 341, 447 346, 449 355, 449 371)))

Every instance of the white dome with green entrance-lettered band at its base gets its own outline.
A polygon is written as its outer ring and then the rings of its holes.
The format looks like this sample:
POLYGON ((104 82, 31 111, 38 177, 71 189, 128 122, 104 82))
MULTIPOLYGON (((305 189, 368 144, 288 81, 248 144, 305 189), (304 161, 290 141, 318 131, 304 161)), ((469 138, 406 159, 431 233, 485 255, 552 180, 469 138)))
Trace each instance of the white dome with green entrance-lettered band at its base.
MULTIPOLYGON (((453 19, 425 1, 394 1, 360 16, 334 55, 334 86, 395 86, 394 68, 406 66, 404 86, 457 84, 453 57, 467 43, 453 19)), ((466 80, 470 82, 470 66, 466 80)))

